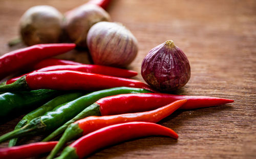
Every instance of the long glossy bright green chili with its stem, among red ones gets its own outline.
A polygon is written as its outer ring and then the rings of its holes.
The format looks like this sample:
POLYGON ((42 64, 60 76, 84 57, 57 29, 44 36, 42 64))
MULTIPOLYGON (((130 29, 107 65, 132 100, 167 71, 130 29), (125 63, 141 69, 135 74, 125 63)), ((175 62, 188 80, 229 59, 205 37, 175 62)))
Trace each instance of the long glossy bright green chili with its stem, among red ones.
MULTIPOLYGON (((93 104, 97 100, 103 97, 118 95, 118 94, 131 94, 131 93, 148 93, 149 90, 142 88, 130 88, 130 87, 116 87, 110 89, 99 90, 82 96, 71 102, 61 104, 55 107, 52 111, 48 111, 44 116, 37 117, 31 120, 24 127, 13 130, 0 137, 0 143, 24 135, 36 134, 38 132, 50 131, 65 124, 70 119, 74 118, 84 108, 93 104)), ((100 114, 98 114, 100 116, 100 114)))

